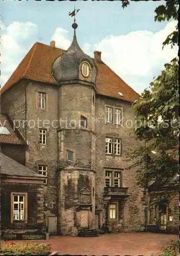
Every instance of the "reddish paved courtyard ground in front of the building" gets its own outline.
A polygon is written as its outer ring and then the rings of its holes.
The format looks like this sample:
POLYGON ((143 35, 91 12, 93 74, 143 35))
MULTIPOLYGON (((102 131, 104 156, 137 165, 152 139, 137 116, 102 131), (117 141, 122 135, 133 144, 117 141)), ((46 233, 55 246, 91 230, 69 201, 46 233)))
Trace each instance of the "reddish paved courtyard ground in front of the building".
MULTIPOLYGON (((159 255, 163 245, 178 240, 175 234, 119 233, 102 234, 99 237, 50 237, 50 240, 29 240, 23 243, 46 243, 58 254, 71 255, 159 255)), ((21 241, 22 242, 22 241, 21 241)))

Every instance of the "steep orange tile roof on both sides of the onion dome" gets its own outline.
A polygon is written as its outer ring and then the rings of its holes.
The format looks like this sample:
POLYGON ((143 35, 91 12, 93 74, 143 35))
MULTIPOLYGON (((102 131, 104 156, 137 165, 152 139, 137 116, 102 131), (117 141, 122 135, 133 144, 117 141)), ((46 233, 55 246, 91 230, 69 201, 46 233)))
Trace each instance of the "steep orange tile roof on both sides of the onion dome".
MULTIPOLYGON (((57 84, 52 75, 52 65, 63 52, 62 49, 36 42, 1 89, 1 93, 4 93, 21 78, 57 84)), ((98 70, 96 78, 98 94, 130 102, 140 97, 103 61, 95 60, 95 64, 98 70)))

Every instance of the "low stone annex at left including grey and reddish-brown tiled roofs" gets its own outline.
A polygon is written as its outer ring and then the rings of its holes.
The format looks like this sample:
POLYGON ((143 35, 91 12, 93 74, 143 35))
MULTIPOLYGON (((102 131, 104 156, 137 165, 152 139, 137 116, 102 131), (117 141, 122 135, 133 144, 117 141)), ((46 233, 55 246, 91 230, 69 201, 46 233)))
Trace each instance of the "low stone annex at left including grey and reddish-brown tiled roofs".
POLYGON ((13 129, 7 114, 0 114, 1 230, 2 238, 44 236, 42 176, 26 166, 28 143, 13 129), (33 207, 32 207, 33 206, 33 207))

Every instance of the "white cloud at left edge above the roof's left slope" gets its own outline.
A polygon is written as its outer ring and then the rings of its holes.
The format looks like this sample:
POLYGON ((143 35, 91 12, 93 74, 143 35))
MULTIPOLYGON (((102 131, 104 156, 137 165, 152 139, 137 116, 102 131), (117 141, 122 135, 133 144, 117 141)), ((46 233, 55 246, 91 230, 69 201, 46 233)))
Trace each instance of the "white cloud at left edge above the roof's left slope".
POLYGON ((37 26, 32 22, 13 22, 8 27, 1 23, 1 29, 1 86, 3 86, 34 44, 37 26))

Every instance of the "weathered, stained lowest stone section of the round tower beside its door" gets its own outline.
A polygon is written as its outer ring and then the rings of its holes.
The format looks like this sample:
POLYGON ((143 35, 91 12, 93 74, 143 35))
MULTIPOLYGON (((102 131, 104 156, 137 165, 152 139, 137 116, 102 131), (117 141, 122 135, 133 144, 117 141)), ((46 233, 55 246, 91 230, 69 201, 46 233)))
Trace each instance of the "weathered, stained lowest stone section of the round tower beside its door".
MULTIPOLYGON (((86 200, 94 204, 92 188, 95 174, 84 170, 61 170, 60 172, 60 227, 62 235, 77 235, 80 227, 78 206, 82 203, 83 192, 89 192, 86 200)), ((94 207, 94 205, 93 205, 94 207)))

